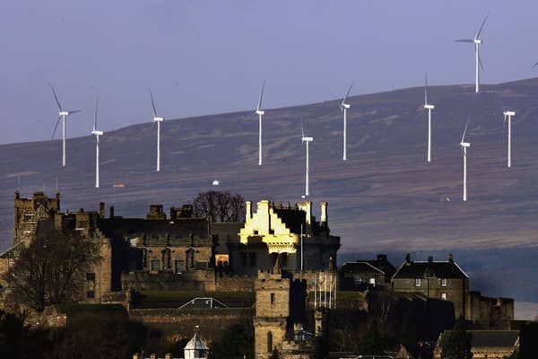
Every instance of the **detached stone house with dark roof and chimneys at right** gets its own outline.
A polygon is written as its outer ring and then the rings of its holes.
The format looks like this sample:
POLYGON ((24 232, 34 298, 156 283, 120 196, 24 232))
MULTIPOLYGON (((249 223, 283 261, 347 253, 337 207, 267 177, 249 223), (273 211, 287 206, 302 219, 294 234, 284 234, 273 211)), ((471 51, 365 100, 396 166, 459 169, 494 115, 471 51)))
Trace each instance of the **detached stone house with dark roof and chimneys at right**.
POLYGON ((465 315, 466 296, 469 292, 469 276, 452 257, 447 261, 412 261, 407 255, 392 278, 392 288, 399 293, 421 293, 426 298, 434 298, 454 303, 454 314, 465 315))

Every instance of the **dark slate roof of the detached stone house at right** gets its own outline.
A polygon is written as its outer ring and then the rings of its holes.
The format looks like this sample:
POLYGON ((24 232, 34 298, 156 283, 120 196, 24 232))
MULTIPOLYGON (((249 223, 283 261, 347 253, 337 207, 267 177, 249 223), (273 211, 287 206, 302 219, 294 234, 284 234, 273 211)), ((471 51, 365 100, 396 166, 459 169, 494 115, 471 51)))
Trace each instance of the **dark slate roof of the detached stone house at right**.
POLYGON ((451 278, 451 279, 469 279, 464 270, 459 267, 456 261, 425 261, 425 262, 404 262, 398 268, 393 278, 451 278))

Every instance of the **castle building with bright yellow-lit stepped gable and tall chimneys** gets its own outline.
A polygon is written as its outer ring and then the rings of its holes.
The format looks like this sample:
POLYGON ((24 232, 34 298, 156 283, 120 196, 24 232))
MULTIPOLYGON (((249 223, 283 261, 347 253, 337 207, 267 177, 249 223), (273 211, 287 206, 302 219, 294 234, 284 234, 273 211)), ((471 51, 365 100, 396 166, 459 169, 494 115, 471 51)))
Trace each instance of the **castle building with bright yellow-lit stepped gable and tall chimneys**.
POLYGON ((326 202, 321 203, 317 222, 312 215, 312 202, 274 206, 262 200, 257 203, 256 213, 247 202, 239 242, 228 246, 234 273, 256 276, 258 269, 271 270, 276 258, 285 271, 334 267, 340 237, 330 234, 326 202))

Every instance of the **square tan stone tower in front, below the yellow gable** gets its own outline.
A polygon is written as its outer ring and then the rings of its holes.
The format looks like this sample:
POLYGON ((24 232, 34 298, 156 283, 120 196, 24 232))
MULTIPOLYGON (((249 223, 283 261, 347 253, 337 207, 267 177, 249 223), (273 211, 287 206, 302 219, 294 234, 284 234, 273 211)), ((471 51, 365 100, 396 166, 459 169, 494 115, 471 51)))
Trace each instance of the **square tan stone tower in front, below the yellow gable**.
POLYGON ((269 358, 282 350, 290 316, 290 279, 282 277, 277 259, 273 273, 259 272, 256 279, 254 352, 256 359, 269 358), (276 269, 275 269, 276 268, 276 269))

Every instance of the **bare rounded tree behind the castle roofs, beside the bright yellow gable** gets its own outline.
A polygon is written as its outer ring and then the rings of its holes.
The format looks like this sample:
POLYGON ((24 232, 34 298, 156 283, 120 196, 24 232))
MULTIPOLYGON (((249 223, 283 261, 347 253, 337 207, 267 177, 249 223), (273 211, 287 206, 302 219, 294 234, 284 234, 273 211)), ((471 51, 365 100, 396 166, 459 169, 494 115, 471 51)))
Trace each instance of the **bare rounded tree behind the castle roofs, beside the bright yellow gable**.
POLYGON ((240 222, 245 218, 245 200, 237 193, 214 190, 199 193, 193 206, 195 215, 204 216, 212 223, 240 222))

